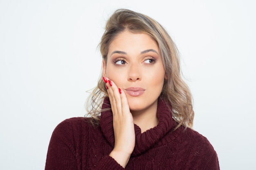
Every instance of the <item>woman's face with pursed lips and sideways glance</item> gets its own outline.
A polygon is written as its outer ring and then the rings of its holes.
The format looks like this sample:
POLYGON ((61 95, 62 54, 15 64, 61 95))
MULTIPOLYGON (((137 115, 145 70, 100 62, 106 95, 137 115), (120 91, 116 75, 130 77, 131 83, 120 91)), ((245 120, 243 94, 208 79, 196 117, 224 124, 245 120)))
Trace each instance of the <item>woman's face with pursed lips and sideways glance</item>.
POLYGON ((166 78, 157 43, 144 33, 119 33, 103 60, 103 76, 125 92, 131 112, 155 109, 166 78))

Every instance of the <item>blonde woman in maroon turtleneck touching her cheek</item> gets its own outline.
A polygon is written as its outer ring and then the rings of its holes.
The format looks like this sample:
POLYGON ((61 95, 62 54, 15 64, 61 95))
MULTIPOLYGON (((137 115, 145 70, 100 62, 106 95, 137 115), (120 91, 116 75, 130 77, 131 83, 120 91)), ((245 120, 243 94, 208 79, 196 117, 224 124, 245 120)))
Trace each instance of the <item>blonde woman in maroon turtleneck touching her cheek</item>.
POLYGON ((164 28, 119 9, 100 50, 103 71, 88 100, 90 117, 56 127, 45 169, 218 170, 215 150, 191 129, 191 93, 164 28))

